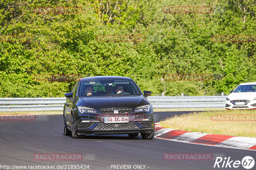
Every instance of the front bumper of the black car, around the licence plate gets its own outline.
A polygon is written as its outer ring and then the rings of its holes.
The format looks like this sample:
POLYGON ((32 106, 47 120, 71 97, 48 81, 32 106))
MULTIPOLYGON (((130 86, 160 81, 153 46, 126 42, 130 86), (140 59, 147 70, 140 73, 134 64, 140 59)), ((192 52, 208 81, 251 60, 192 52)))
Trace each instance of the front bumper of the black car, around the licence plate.
POLYGON ((130 113, 128 115, 104 115, 86 113, 75 115, 76 132, 82 134, 128 134, 150 133, 154 130, 153 109, 149 112, 130 113), (128 123, 104 123, 105 117, 129 117, 128 123), (141 120, 142 119, 142 120, 141 120), (145 120, 147 119, 147 120, 145 120), (90 121, 90 122, 84 122, 90 121), (83 121, 83 122, 82 122, 83 121))

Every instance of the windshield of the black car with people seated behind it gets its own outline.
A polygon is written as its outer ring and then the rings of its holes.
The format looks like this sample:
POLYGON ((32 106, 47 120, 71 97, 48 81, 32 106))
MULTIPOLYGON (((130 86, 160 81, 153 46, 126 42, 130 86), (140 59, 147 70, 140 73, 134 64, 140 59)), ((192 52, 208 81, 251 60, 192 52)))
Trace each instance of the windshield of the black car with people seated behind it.
POLYGON ((116 96, 140 95, 139 89, 127 80, 92 80, 82 81, 79 96, 116 96))

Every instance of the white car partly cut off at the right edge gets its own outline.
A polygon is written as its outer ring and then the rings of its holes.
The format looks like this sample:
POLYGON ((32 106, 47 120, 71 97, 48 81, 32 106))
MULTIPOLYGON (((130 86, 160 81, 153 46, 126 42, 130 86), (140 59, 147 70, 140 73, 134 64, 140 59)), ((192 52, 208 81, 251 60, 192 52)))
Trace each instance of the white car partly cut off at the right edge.
POLYGON ((230 92, 226 109, 256 109, 256 82, 241 83, 230 92))

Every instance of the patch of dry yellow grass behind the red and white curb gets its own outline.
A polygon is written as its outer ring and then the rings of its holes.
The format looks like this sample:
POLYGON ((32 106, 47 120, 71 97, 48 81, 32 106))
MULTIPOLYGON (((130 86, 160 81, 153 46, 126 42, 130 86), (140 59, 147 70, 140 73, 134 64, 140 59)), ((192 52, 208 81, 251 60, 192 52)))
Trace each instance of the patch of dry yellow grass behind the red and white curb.
POLYGON ((256 116, 256 110, 219 110, 200 113, 191 112, 189 114, 167 118, 165 121, 161 121, 160 125, 184 131, 256 138, 255 121, 212 121, 212 115, 216 114, 253 114, 256 116))

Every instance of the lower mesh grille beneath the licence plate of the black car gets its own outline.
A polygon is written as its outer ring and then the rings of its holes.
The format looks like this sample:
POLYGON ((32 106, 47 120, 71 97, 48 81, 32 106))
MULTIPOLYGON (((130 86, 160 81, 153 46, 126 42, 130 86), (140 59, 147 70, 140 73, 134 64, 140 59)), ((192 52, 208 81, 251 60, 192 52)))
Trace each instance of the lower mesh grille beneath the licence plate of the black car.
POLYGON ((114 127, 113 123, 105 124, 104 122, 100 122, 94 129, 139 129, 139 127, 133 122, 119 123, 119 127, 114 127))

